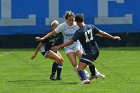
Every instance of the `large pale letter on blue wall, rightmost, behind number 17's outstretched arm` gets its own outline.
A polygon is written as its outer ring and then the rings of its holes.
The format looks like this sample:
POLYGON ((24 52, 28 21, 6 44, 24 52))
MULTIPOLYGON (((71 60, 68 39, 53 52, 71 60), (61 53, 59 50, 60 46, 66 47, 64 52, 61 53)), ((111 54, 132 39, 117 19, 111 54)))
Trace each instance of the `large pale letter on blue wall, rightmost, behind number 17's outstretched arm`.
POLYGON ((132 24, 132 14, 125 14, 124 17, 109 17, 108 2, 116 1, 124 3, 124 0, 98 0, 98 17, 95 17, 95 24, 132 24))

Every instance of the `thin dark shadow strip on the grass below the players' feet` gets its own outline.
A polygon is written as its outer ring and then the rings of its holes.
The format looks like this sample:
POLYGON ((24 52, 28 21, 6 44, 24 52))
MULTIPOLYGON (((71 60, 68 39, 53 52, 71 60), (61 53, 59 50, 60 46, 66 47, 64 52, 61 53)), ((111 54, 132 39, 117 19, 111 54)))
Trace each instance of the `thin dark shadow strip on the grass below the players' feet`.
POLYGON ((29 85, 74 85, 79 82, 68 82, 68 81, 58 81, 58 80, 9 80, 8 83, 12 84, 29 84, 29 85))

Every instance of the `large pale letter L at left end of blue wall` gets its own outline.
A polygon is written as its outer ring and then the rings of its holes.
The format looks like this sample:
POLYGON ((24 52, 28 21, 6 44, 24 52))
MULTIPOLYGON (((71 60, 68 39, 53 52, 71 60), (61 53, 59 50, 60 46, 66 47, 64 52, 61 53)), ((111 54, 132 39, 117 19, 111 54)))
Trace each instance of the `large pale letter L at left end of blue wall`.
POLYGON ((36 25, 36 15, 29 15, 29 18, 12 18, 11 0, 1 0, 0 26, 29 26, 36 25))

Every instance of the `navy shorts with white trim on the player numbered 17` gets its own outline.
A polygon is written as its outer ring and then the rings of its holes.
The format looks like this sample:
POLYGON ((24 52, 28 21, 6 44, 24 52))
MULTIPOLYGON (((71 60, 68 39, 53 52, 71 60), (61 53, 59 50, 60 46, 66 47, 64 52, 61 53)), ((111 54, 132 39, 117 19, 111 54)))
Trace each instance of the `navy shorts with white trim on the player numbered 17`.
POLYGON ((99 56, 99 52, 93 52, 90 54, 82 54, 80 58, 80 62, 83 62, 85 64, 91 64, 94 60, 96 60, 99 56))

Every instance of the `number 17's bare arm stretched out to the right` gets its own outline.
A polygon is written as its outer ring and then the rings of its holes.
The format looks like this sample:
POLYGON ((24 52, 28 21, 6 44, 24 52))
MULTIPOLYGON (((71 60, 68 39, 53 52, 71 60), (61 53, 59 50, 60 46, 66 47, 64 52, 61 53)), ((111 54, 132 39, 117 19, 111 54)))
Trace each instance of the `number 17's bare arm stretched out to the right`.
POLYGON ((99 31, 99 32, 97 33, 97 35, 99 35, 99 36, 101 36, 101 37, 110 38, 110 39, 113 39, 113 40, 118 40, 118 41, 121 40, 121 38, 120 38, 119 36, 112 36, 112 35, 110 35, 110 34, 104 32, 104 31, 99 31))

